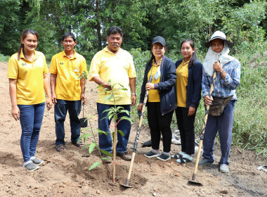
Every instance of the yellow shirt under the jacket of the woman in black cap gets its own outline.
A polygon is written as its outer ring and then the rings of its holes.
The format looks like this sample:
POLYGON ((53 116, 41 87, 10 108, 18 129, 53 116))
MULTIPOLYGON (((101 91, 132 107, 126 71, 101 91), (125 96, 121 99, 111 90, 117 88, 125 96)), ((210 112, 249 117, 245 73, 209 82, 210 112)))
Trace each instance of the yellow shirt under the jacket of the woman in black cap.
MULTIPOLYGON (((157 69, 159 68, 159 65, 161 62, 162 62, 162 59, 160 59, 158 65, 155 65, 155 62, 153 61, 152 67, 151 67, 150 71, 148 72, 148 80, 149 80, 150 75, 153 76, 152 82, 151 82, 152 84, 158 84, 160 82, 161 75, 159 75, 157 80, 155 80, 154 77, 157 73, 157 69)), ((150 89, 148 91, 148 102, 160 102, 159 91, 157 89, 150 89)))

